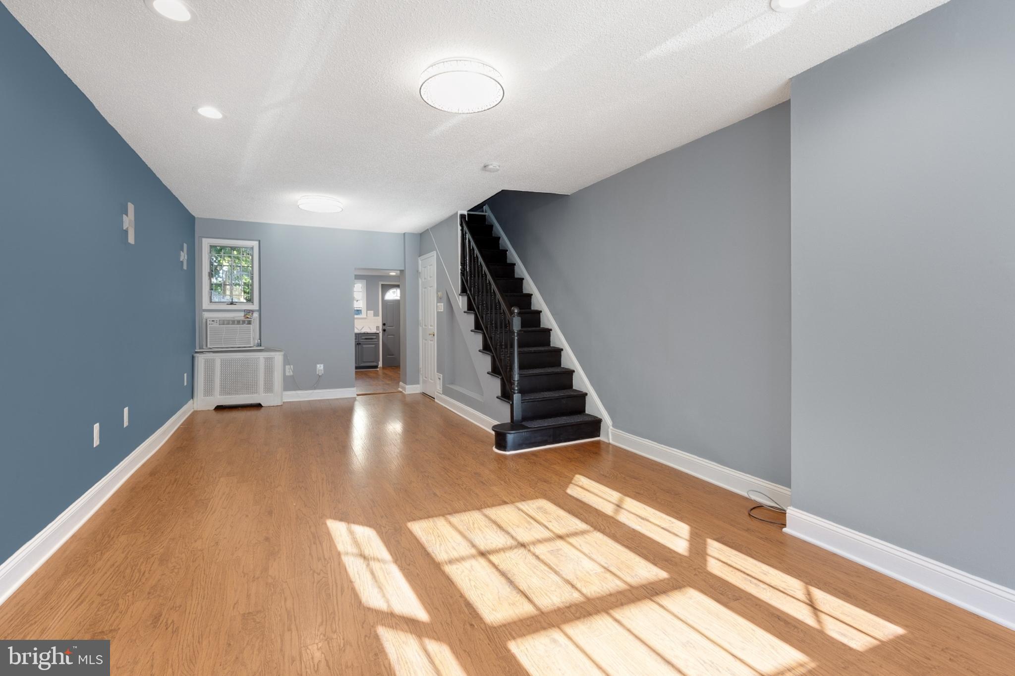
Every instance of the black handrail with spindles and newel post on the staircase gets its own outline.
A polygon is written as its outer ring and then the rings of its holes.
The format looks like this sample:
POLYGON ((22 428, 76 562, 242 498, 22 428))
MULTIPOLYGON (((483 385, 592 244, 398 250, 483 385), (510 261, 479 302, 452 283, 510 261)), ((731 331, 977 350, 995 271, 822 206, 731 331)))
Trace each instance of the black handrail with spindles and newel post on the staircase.
POLYGON ((496 278, 483 260, 479 246, 469 231, 466 214, 459 217, 461 225, 461 284, 493 353, 500 377, 510 379, 512 422, 521 420, 522 395, 519 388, 519 335, 522 315, 517 306, 510 306, 497 286, 496 278))

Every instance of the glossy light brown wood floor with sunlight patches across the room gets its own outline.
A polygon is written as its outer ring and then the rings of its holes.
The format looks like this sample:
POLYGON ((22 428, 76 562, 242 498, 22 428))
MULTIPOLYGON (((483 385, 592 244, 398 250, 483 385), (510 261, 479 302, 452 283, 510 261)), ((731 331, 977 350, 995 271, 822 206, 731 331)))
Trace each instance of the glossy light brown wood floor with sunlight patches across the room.
POLYGON ((746 498, 600 442, 490 446, 421 395, 197 411, 0 635, 111 638, 131 676, 1013 673, 1015 632, 746 498))

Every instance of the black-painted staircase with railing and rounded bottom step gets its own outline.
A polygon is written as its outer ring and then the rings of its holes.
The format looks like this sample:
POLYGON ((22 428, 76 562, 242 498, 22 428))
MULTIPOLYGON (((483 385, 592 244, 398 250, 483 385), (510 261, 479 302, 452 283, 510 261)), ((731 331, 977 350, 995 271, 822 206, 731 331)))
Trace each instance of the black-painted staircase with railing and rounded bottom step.
POLYGON ((511 422, 493 425, 493 447, 515 452, 598 438, 602 419, 585 412, 587 393, 574 389, 573 369, 560 365, 561 349, 550 345, 551 329, 532 309, 532 294, 525 293, 525 280, 515 275, 486 214, 460 218, 466 313, 483 337, 489 375, 500 381, 499 399, 511 405, 511 422))

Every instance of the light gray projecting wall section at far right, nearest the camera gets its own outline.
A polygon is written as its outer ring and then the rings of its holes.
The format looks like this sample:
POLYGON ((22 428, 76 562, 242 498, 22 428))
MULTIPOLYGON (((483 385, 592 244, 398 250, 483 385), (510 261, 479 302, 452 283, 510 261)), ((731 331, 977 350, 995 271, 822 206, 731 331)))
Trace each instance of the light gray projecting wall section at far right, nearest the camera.
POLYGON ((1015 587, 1015 3, 793 80, 793 502, 1015 587))

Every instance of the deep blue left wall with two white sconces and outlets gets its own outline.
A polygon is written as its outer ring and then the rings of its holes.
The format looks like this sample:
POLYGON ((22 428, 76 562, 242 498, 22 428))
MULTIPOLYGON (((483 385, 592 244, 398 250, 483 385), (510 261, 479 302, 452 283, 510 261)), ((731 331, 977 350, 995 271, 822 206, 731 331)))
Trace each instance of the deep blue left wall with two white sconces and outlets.
POLYGON ((194 217, 2 5, 0 238, 2 561, 190 400, 194 349, 194 217))

